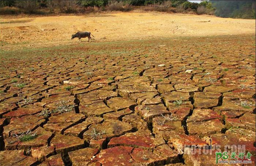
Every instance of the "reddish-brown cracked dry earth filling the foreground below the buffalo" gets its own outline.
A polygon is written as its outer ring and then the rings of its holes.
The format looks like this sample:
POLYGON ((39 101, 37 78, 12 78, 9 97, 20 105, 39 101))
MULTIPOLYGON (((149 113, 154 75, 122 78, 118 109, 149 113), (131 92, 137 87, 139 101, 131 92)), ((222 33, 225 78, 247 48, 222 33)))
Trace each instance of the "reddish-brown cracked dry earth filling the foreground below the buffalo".
POLYGON ((182 145, 246 145, 255 165, 253 35, 1 56, 1 166, 215 165, 182 145))

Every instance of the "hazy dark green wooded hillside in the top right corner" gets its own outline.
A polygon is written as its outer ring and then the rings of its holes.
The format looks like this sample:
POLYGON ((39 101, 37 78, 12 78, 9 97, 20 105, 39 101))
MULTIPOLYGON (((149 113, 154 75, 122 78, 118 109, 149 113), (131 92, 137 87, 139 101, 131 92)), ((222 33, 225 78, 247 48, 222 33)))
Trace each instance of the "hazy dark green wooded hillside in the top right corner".
POLYGON ((210 3, 216 8, 215 15, 218 17, 255 19, 255 1, 253 0, 211 0, 210 3))

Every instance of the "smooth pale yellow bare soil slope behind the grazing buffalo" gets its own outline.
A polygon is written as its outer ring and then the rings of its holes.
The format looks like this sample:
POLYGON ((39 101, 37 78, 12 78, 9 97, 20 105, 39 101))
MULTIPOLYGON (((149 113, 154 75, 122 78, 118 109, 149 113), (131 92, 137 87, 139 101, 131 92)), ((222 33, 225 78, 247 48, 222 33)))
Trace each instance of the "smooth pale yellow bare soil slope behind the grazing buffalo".
POLYGON ((78 39, 70 40, 71 35, 77 31, 90 31, 95 36, 93 42, 255 34, 255 20, 161 12, 18 19, 5 16, 0 22, 1 48, 4 50, 73 44, 78 39))

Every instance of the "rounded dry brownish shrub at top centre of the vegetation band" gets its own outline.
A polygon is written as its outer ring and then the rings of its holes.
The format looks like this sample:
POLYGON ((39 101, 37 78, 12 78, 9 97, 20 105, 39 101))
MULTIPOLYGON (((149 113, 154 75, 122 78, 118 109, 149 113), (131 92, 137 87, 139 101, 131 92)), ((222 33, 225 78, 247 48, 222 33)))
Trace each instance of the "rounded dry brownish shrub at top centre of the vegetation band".
POLYGON ((125 1, 109 1, 107 8, 110 11, 123 11, 128 12, 132 10, 132 6, 125 1))

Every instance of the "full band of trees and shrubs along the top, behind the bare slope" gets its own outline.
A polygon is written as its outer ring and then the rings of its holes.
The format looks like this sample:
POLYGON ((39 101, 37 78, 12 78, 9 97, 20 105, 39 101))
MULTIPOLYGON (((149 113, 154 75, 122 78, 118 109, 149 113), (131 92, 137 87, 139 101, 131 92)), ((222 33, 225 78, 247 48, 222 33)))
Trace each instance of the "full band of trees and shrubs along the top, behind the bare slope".
POLYGON ((0 14, 92 13, 104 11, 159 11, 255 19, 255 1, 187 0, 8 0, 0 1, 0 14))

